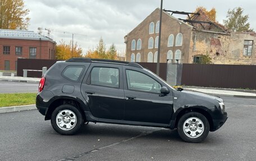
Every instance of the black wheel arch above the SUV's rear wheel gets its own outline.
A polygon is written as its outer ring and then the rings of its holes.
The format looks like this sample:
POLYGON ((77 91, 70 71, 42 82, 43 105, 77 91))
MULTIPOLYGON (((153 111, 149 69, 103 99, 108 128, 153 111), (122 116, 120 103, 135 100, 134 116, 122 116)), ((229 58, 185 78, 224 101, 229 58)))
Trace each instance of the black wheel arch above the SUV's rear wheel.
POLYGON ((51 119, 51 115, 57 107, 63 104, 70 104, 79 109, 81 112, 81 115, 83 117, 83 120, 85 122, 85 112, 88 110, 87 105, 79 98, 73 98, 71 96, 56 96, 51 100, 51 104, 49 104, 49 108, 47 110, 47 113, 45 114, 45 120, 51 119))

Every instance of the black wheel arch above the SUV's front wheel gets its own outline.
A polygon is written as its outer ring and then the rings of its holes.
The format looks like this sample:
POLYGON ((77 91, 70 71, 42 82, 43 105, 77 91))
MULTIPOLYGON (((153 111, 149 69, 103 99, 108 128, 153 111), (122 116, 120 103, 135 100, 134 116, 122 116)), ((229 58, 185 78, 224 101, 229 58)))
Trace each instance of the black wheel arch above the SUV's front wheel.
POLYGON ((177 125, 178 125, 178 122, 180 120, 180 118, 186 114, 186 113, 189 113, 189 112, 198 112, 198 113, 201 113, 203 114, 203 116, 205 116, 209 122, 209 126, 210 126, 210 131, 212 130, 213 128, 213 119, 212 119, 212 116, 211 114, 205 110, 207 109, 206 107, 202 107, 202 106, 194 106, 194 107, 188 107, 188 108, 181 108, 180 111, 177 113, 176 112, 176 118, 175 118, 175 125, 174 125, 174 128, 177 128, 177 125))

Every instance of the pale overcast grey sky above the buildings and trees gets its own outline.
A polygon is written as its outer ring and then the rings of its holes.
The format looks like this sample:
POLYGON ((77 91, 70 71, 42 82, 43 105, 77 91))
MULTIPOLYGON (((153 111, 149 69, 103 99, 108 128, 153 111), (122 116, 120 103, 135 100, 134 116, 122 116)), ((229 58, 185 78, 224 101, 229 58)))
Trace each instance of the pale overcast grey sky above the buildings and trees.
MULTIPOLYGON (((114 43, 119 53, 125 53, 124 36, 160 8, 161 0, 24 0, 24 3, 30 10, 29 30, 50 29, 57 43, 61 40, 69 43, 73 33, 74 43, 85 54, 97 46, 100 38, 107 48, 114 43)), ((249 15, 250 26, 256 30, 255 0, 163 0, 166 10, 193 12, 198 6, 207 10, 216 8, 216 19, 221 24, 228 9, 242 7, 244 14, 249 15)))

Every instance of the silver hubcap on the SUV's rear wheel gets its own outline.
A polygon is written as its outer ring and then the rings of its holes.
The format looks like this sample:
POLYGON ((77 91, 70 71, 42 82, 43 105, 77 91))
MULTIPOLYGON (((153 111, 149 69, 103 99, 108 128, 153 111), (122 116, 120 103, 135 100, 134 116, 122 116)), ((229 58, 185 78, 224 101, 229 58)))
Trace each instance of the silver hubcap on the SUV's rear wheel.
POLYGON ((65 109, 57 114, 56 123, 61 130, 71 130, 76 125, 76 115, 74 112, 65 109))

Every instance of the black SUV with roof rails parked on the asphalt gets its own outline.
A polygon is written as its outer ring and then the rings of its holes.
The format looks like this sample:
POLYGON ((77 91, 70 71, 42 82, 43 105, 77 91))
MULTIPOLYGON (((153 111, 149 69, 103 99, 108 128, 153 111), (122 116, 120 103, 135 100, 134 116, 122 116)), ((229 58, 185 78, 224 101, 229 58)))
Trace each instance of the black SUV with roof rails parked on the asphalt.
POLYGON ((36 107, 62 135, 85 122, 175 129, 200 142, 227 119, 216 96, 174 89, 138 63, 71 58, 56 62, 39 83, 36 107))

